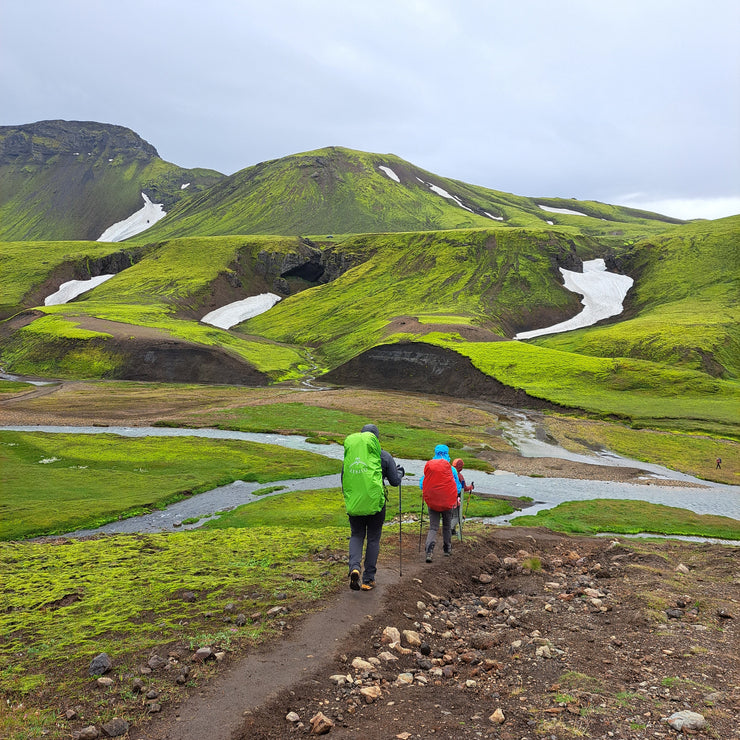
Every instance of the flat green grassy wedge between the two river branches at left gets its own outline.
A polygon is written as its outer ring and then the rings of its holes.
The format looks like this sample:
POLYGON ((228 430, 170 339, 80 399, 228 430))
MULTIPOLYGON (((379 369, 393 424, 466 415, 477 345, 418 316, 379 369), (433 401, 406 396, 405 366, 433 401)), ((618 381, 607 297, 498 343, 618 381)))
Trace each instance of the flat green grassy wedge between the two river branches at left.
POLYGON ((234 480, 329 475, 300 450, 195 437, 0 432, 0 539, 99 526, 234 480))

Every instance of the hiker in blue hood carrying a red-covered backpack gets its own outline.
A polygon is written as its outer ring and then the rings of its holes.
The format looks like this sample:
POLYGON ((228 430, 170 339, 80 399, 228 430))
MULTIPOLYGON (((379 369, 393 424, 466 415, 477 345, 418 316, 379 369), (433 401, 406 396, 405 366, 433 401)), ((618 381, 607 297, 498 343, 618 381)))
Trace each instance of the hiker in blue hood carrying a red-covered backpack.
POLYGON ((457 470, 450 463, 450 450, 447 445, 437 445, 434 448, 434 457, 424 465, 424 475, 419 481, 419 488, 429 510, 429 532, 425 550, 427 563, 431 563, 440 518, 444 553, 452 554, 452 511, 460 503, 459 495, 462 490, 457 470))

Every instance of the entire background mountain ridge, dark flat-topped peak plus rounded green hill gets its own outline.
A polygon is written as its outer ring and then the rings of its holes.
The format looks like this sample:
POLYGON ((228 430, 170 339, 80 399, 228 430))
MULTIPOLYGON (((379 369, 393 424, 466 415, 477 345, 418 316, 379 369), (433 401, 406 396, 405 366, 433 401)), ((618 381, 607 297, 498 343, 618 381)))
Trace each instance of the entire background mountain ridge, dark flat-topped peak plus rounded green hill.
POLYGON ((681 223, 595 201, 533 199, 423 170, 393 154, 327 147, 230 176, 164 162, 123 126, 40 121, 0 127, 0 239, 97 239, 142 207, 165 218, 142 238, 572 227, 619 235, 681 223))

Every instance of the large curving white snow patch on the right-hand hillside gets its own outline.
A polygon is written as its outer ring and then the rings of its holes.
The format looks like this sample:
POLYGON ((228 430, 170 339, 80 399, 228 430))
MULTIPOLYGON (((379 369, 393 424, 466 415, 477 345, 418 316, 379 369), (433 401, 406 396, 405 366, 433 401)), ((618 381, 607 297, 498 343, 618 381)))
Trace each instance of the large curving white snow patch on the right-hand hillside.
MULTIPOLYGON (((540 206, 542 207, 542 206, 540 206)), ((583 296, 583 311, 567 321, 554 326, 533 331, 519 332, 514 339, 532 339, 543 334, 557 334, 593 326, 597 321, 622 313, 622 303, 634 280, 627 275, 617 275, 606 271, 603 259, 588 260, 583 263, 583 272, 573 272, 560 268, 563 285, 573 293, 583 296)))

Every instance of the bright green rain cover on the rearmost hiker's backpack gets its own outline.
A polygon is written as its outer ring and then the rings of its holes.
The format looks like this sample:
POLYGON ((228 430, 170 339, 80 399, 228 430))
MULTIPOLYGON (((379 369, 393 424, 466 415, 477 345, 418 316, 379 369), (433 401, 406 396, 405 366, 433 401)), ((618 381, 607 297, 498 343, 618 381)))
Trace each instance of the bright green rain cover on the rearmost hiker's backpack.
POLYGON ((351 516, 377 514, 385 505, 380 442, 372 432, 357 432, 344 440, 342 491, 351 516))

